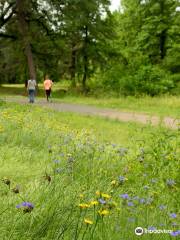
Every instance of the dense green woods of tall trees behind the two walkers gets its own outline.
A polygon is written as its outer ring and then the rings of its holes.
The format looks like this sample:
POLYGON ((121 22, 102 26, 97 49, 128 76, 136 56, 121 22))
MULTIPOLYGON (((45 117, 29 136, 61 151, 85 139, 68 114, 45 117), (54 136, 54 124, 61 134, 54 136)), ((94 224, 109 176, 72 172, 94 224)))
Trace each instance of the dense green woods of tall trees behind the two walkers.
POLYGON ((84 92, 180 90, 180 1, 1 0, 0 83, 68 80, 84 92))

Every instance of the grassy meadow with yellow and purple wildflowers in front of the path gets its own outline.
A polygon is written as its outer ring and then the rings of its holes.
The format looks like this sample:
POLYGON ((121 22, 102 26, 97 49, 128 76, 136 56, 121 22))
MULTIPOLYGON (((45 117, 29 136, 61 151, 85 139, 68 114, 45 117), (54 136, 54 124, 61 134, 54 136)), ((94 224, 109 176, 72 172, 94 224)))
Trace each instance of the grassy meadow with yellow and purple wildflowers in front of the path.
MULTIPOLYGON (((179 232, 177 131, 0 103, 0 239, 179 232)), ((174 235, 174 236, 173 236, 174 235)))

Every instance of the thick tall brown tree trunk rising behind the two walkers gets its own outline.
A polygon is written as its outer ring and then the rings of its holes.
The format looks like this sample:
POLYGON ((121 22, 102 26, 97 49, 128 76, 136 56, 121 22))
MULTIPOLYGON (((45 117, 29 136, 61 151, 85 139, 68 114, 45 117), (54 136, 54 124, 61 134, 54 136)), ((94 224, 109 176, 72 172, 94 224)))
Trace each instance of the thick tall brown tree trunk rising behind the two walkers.
POLYGON ((35 66, 33 61, 32 49, 29 40, 28 24, 26 22, 27 0, 16 0, 17 16, 19 21, 19 28, 22 35, 23 47, 27 58, 30 79, 36 79, 35 66))

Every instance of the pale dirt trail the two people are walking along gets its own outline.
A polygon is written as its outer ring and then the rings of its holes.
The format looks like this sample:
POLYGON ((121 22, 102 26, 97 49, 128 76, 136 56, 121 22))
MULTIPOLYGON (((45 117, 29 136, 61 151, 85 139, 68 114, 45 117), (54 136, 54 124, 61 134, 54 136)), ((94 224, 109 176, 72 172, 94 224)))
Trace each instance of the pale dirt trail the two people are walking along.
MULTIPOLYGON (((7 97, 5 101, 16 102, 21 104, 27 104, 26 98, 10 98, 7 97)), ((161 119, 157 116, 150 116, 143 113, 133 113, 133 112, 121 112, 118 110, 108 109, 108 108, 98 108, 94 106, 80 105, 80 104, 70 104, 70 103, 60 103, 52 102, 47 103, 45 100, 36 100, 35 105, 43 106, 46 108, 54 109, 60 112, 74 112, 84 115, 96 115, 101 117, 106 117, 110 119, 116 119, 123 122, 139 122, 142 124, 150 123, 153 126, 157 126, 162 123, 167 128, 179 129, 180 119, 174 119, 171 117, 164 117, 161 119)))

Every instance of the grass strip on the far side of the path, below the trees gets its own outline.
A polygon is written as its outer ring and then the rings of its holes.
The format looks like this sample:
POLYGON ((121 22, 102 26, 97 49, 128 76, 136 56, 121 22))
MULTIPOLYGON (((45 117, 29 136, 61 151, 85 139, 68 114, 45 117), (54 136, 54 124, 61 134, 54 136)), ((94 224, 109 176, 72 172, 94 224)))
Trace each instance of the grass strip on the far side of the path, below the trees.
MULTIPOLYGON (((162 96, 162 97, 85 97, 83 95, 64 92, 67 89, 65 83, 55 83, 53 87, 53 98, 56 101, 67 103, 77 103, 94 105, 102 108, 113 108, 120 111, 142 112, 157 116, 172 116, 180 118, 180 97, 179 96, 162 96)), ((3 96, 26 96, 24 85, 2 85, 0 87, 0 97, 3 96)), ((42 84, 39 84, 38 97, 44 97, 42 84)))

